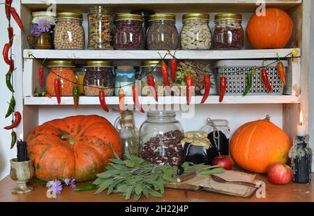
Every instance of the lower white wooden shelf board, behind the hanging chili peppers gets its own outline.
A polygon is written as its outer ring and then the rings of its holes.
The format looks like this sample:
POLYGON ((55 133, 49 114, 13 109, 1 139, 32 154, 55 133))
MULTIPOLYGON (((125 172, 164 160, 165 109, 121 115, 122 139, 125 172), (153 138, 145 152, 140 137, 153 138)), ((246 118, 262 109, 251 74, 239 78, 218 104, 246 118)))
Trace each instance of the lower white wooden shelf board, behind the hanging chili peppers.
MULTIPOLYGON (((218 104, 219 96, 209 96, 206 104, 218 104)), ((191 103, 200 104, 202 96, 193 96, 191 103)), ((141 104, 186 104, 186 96, 159 96, 158 102, 151 96, 140 97, 141 104)), ((118 105, 118 96, 107 96, 106 103, 108 105, 118 105)), ((125 97, 126 104, 133 104, 131 96, 125 97)), ((225 104, 252 104, 252 103, 301 103, 299 96, 225 96, 223 103, 225 104)), ((80 105, 98 105, 99 100, 97 96, 81 96, 80 105)), ((57 99, 52 97, 24 97, 24 105, 58 105, 57 99)), ((73 105, 72 96, 62 96, 61 105, 73 105)))

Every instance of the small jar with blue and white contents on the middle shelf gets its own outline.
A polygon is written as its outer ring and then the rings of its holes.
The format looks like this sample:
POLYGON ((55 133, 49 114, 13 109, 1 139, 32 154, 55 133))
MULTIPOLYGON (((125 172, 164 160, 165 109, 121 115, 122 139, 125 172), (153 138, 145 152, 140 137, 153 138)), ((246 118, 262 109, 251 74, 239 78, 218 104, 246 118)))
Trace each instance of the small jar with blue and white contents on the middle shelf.
POLYGON ((133 66, 117 66, 114 94, 119 96, 119 89, 124 89, 125 96, 132 96, 132 86, 135 83, 133 66))

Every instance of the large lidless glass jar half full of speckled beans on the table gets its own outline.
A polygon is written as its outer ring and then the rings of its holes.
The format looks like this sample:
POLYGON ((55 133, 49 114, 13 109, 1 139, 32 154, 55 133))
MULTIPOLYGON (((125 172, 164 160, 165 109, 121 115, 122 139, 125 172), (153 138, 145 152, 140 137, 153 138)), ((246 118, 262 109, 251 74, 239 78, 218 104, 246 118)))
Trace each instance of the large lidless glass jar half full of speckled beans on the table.
POLYGON ((184 136, 173 111, 151 111, 140 127, 142 159, 152 164, 179 165, 184 159, 180 143, 184 136))

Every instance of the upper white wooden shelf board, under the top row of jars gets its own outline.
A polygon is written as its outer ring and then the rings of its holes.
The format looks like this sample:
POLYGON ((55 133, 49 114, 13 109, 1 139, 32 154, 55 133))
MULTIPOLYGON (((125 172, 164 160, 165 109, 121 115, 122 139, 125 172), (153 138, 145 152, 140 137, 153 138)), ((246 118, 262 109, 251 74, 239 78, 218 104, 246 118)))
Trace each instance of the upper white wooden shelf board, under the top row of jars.
MULTIPOLYGON (((292 52, 290 49, 271 50, 177 50, 178 59, 264 59, 285 57, 292 52)), ((296 57, 301 56, 301 49, 296 57)), ((31 59, 29 52, 38 59, 160 59, 165 50, 24 50, 24 58, 31 59)), ((171 51, 174 53, 174 50, 171 51)), ((290 55, 290 57, 292 57, 290 55)), ((167 55, 166 59, 172 59, 167 55)))

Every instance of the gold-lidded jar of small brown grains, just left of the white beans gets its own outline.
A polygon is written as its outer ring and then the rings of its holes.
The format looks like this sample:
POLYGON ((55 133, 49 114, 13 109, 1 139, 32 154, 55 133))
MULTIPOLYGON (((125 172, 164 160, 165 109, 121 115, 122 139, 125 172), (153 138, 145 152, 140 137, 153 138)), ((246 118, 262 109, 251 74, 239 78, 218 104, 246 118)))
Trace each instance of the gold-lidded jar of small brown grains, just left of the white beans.
POLYGON ((149 50, 177 50, 179 34, 176 15, 160 13, 149 16, 147 29, 147 48, 149 50))

